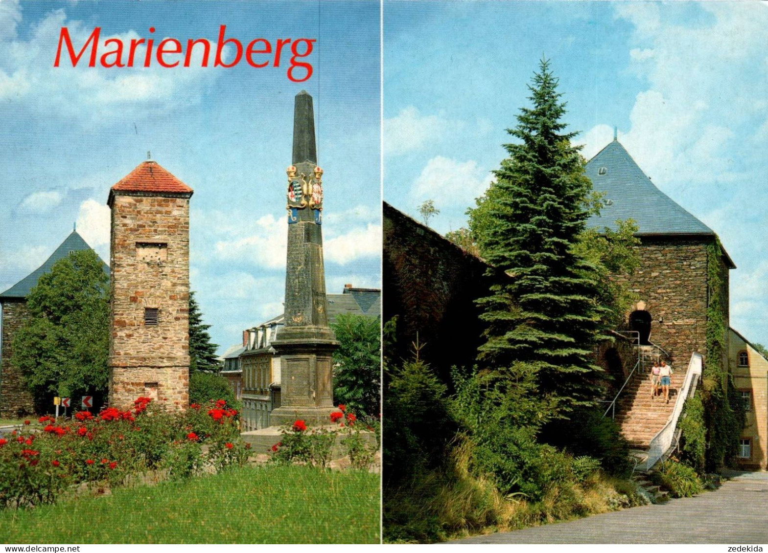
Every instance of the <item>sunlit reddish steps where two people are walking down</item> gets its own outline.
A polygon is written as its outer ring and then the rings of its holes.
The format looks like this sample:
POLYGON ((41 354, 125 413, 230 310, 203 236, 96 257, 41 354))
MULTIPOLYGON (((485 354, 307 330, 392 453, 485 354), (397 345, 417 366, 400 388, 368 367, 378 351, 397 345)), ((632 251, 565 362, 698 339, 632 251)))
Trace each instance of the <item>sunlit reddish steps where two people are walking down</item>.
MULTIPOLYGON (((650 364, 646 366, 650 367, 650 364)), ((685 370, 681 368, 677 367, 671 377, 669 403, 664 401, 663 395, 651 398, 650 373, 635 375, 627 383, 617 402, 615 420, 632 448, 647 450, 650 440, 669 420, 685 380, 685 370)))

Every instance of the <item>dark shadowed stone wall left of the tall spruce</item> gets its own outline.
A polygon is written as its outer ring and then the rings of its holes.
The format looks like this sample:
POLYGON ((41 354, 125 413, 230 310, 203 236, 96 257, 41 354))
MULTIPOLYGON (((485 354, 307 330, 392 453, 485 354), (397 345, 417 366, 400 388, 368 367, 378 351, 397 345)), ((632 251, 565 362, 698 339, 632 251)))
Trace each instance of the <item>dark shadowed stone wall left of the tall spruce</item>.
POLYGON ((419 357, 446 383, 453 365, 472 367, 483 331, 475 300, 493 282, 488 265, 385 203, 383 269, 383 321, 398 318, 386 356, 412 358, 418 335, 419 357))

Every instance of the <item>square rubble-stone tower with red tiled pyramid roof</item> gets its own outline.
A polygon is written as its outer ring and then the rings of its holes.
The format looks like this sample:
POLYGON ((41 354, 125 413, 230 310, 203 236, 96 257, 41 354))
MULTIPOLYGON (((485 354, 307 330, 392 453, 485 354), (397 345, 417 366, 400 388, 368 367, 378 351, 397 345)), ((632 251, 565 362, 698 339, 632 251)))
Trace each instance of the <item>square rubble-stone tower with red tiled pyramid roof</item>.
POLYGON ((112 186, 109 400, 189 403, 189 202, 154 161, 112 186))

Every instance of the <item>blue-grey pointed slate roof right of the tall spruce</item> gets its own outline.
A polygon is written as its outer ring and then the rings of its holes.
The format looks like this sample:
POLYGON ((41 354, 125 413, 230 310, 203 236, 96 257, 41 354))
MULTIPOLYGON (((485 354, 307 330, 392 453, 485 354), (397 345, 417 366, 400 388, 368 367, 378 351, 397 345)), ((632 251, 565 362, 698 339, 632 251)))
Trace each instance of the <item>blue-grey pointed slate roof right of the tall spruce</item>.
MULTIPOLYGON (((716 236, 707 225, 657 189, 615 138, 589 160, 585 172, 594 190, 605 193, 601 214, 588 219, 589 227, 607 226, 616 230, 617 219, 634 219, 637 236, 716 236)), ((724 249, 723 255, 727 265, 735 268, 724 249)))

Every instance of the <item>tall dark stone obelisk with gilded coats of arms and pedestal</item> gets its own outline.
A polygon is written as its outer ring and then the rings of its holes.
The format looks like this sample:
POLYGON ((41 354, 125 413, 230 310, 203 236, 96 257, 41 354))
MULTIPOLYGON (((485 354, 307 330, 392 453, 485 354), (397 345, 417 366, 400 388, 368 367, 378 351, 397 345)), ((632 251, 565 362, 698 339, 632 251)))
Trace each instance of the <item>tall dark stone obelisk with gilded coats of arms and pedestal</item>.
POLYGON ((281 401, 273 425, 329 423, 333 350, 323 268, 323 170, 317 166, 312 97, 296 94, 293 164, 288 167, 288 259, 285 325, 272 342, 282 358, 281 401))

